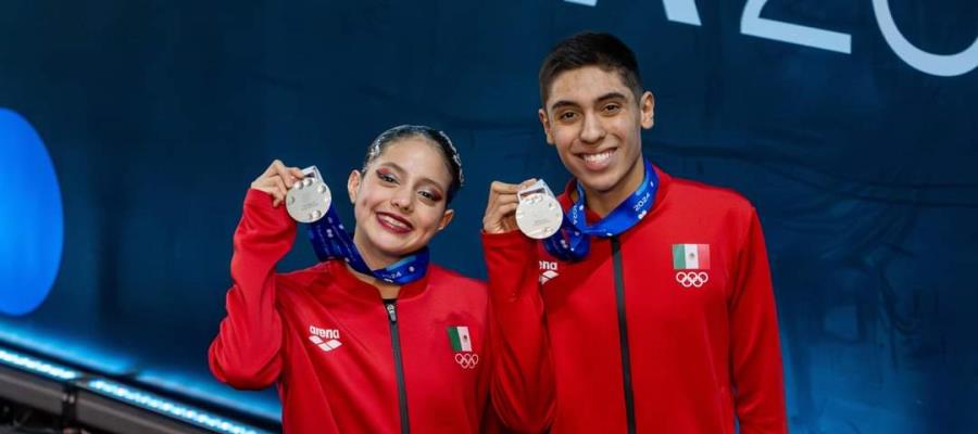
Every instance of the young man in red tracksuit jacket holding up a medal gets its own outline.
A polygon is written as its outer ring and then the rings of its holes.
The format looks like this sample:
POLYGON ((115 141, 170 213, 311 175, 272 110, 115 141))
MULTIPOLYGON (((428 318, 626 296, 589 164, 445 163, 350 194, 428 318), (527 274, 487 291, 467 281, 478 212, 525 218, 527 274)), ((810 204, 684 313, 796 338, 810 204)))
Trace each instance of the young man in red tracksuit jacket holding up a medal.
POLYGON ((539 78, 540 123, 574 179, 559 197, 565 226, 544 243, 515 230, 530 181, 490 189, 482 242, 503 420, 557 434, 787 432, 753 206, 647 163, 654 99, 615 37, 560 42, 539 78))

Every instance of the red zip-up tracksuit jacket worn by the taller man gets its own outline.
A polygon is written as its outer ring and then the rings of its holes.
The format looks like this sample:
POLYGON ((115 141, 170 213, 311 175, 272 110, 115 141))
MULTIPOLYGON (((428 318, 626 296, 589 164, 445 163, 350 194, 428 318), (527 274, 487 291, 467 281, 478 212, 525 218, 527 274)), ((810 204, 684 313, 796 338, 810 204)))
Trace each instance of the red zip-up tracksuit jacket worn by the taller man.
POLYGON ((754 208, 656 173, 654 207, 616 238, 592 238, 580 263, 519 232, 484 234, 500 329, 493 401, 523 403, 499 408, 514 427, 734 434, 736 417, 742 434, 787 432, 754 208))

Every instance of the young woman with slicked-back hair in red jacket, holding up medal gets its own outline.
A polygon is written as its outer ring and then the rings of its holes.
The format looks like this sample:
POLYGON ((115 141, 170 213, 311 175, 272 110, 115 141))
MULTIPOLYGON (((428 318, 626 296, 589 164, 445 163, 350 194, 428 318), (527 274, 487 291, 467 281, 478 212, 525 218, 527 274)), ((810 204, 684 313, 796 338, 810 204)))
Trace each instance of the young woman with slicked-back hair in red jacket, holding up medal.
POLYGON ((427 264, 462 184, 449 138, 419 126, 381 133, 347 183, 356 219, 348 240, 362 261, 278 273, 296 239, 284 201, 302 177, 275 161, 248 191, 211 371, 237 388, 276 384, 287 433, 482 430, 486 289, 427 264))

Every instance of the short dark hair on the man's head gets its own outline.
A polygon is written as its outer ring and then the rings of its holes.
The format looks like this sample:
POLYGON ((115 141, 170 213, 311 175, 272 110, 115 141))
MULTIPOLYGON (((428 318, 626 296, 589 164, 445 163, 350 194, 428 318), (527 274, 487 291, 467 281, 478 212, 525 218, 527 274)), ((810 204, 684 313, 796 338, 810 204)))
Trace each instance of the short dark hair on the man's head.
POLYGON ((639 74, 635 53, 625 42, 610 34, 584 31, 557 42, 540 65, 540 103, 547 105, 550 85, 561 73, 585 66, 598 66, 616 71, 622 81, 631 89, 638 101, 642 93, 642 76, 639 74))

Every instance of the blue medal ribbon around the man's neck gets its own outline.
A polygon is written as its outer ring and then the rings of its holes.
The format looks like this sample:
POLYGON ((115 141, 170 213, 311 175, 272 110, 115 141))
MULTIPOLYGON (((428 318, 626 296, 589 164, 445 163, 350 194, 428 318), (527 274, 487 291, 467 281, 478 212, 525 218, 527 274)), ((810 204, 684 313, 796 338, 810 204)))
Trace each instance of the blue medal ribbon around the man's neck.
POLYGON ((585 214, 585 191, 577 183, 577 202, 564 214, 561 229, 552 237, 543 240, 547 252, 561 260, 578 261, 588 256, 591 250, 591 237, 611 238, 618 235, 641 221, 652 209, 655 192, 659 190, 659 175, 648 158, 642 158, 645 176, 642 183, 624 202, 618 204, 601 220, 589 225, 585 214))

